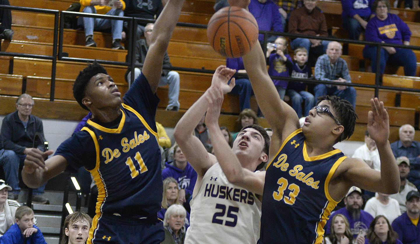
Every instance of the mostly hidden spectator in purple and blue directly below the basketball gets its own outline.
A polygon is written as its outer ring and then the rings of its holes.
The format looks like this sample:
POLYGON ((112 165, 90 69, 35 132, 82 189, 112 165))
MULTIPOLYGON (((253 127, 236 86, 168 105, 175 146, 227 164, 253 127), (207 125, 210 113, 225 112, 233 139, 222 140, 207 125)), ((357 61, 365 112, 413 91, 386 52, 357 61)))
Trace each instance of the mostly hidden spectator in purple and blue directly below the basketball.
MULTIPOLYGON (((244 67, 242 58, 227 58, 226 67, 236 69, 238 74, 246 74, 247 71, 244 67)), ((251 82, 248 78, 235 77, 235 87, 229 94, 239 95, 239 110, 242 111, 245 108, 251 108, 250 99, 254 95, 254 91, 251 87, 251 82)))

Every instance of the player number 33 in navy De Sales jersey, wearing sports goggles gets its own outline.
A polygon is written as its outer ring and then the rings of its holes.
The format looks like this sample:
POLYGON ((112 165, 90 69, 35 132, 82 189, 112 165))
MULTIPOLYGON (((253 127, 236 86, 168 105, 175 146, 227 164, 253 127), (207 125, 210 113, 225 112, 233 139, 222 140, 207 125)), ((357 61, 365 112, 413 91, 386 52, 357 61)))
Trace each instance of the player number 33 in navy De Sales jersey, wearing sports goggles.
MULTIPOLYGON (((229 3, 246 6, 249 1, 229 3)), ((356 113, 350 103, 325 96, 299 128, 297 114, 280 99, 268 76, 261 46, 256 44, 242 58, 258 105, 273 128, 265 180, 244 168, 236 172, 243 185, 263 187, 260 244, 322 243, 331 211, 353 185, 372 192, 398 192, 399 170, 382 102, 371 99, 367 123, 378 146, 379 172, 333 148, 354 131, 356 113)))

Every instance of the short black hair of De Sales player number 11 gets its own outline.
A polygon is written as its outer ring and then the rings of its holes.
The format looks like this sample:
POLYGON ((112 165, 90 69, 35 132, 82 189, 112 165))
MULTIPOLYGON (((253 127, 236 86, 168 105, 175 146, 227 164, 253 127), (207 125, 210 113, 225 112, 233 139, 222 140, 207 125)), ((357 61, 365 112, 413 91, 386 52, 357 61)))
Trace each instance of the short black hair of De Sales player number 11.
POLYGON ((86 95, 86 85, 92 77, 100 73, 108 74, 106 69, 95 60, 92 64, 88 64, 88 66, 79 73, 76 80, 74 81, 74 99, 76 99, 77 103, 79 103, 79 105, 86 110, 89 110, 89 108, 87 108, 81 102, 81 100, 83 100, 86 95))

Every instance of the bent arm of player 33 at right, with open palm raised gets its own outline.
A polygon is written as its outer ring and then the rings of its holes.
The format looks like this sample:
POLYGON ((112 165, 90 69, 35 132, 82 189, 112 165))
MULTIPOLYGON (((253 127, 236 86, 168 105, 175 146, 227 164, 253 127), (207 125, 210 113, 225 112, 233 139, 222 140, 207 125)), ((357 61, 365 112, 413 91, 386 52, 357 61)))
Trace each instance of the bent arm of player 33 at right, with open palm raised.
POLYGON ((392 154, 389 137, 388 112, 378 98, 371 99, 372 110, 368 113, 367 131, 376 142, 381 159, 381 172, 372 170, 361 160, 353 159, 345 177, 354 185, 372 192, 394 194, 399 191, 399 170, 392 154))

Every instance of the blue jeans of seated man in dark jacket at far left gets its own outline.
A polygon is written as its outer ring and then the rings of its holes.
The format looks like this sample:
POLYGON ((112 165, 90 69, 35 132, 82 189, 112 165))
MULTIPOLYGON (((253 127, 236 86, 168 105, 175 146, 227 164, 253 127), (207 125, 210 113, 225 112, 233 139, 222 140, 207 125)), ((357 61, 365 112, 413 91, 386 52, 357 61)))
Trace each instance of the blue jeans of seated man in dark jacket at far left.
MULTIPOLYGON (((19 165, 24 164, 25 158, 26 154, 16 154, 12 150, 0 150, 0 166, 3 167, 5 182, 12 187, 13 190, 11 192, 15 194, 19 194, 21 190, 19 187, 19 165)), ((47 185, 46 182, 44 185, 34 189, 32 193, 34 195, 44 193, 45 185, 47 185)))

